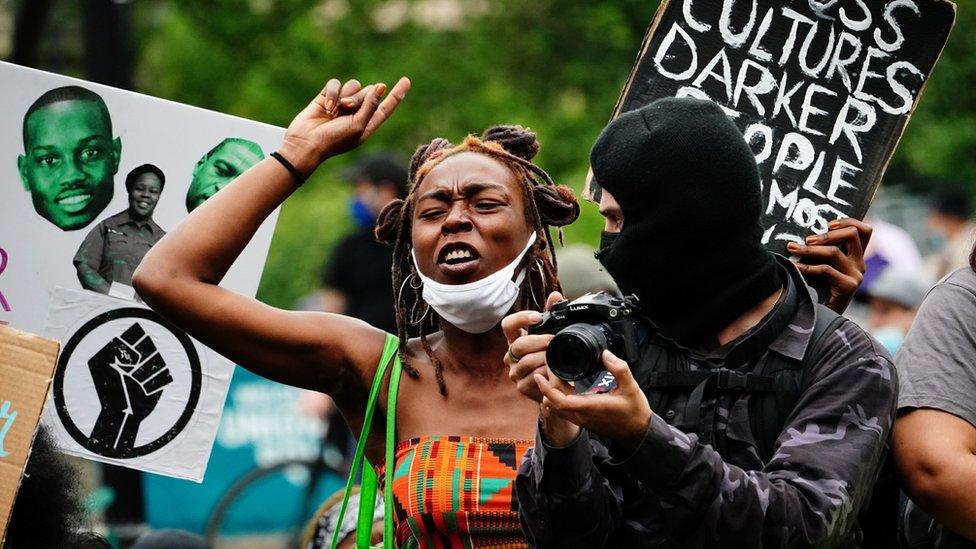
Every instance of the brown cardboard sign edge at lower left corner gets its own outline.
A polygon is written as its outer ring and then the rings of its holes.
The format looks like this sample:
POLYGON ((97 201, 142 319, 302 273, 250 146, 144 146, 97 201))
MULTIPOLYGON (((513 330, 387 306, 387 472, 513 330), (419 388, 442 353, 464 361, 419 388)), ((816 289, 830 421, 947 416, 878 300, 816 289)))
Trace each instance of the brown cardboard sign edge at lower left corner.
POLYGON ((0 545, 57 359, 57 341, 0 326, 0 545))

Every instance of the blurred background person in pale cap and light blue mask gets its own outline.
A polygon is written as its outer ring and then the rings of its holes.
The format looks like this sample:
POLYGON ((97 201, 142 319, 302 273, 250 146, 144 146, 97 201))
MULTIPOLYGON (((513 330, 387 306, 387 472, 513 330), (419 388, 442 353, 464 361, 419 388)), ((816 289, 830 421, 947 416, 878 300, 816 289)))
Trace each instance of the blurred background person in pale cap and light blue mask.
POLYGON ((901 348, 927 289, 917 275, 886 269, 867 291, 868 331, 891 356, 901 348))

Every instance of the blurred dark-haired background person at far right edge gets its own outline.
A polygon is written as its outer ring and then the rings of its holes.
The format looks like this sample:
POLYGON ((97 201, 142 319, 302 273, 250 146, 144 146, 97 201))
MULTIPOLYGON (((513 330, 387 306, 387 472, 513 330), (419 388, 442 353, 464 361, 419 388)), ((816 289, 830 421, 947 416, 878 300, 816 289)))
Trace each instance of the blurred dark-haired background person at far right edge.
POLYGON ((976 223, 970 219, 971 200, 964 189, 940 191, 932 200, 928 227, 936 251, 925 258, 925 274, 933 283, 969 264, 969 252, 976 240, 976 223))

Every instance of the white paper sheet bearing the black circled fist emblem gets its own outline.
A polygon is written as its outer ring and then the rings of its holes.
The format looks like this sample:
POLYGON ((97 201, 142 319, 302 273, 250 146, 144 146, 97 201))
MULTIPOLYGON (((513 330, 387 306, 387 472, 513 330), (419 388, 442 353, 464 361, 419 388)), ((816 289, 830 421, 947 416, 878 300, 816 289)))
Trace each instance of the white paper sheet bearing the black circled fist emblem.
POLYGON ((56 288, 62 342, 45 425, 69 454, 203 479, 234 365, 151 309, 56 288))

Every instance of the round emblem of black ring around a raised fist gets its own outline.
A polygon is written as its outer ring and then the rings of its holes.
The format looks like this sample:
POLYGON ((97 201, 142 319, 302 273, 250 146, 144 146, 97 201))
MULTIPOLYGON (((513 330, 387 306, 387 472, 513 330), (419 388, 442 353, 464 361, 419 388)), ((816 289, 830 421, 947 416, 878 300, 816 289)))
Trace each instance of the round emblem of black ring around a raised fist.
POLYGON ((78 444, 100 456, 134 458, 186 427, 201 377, 185 333, 149 309, 125 307, 88 320, 65 343, 54 404, 78 444))

